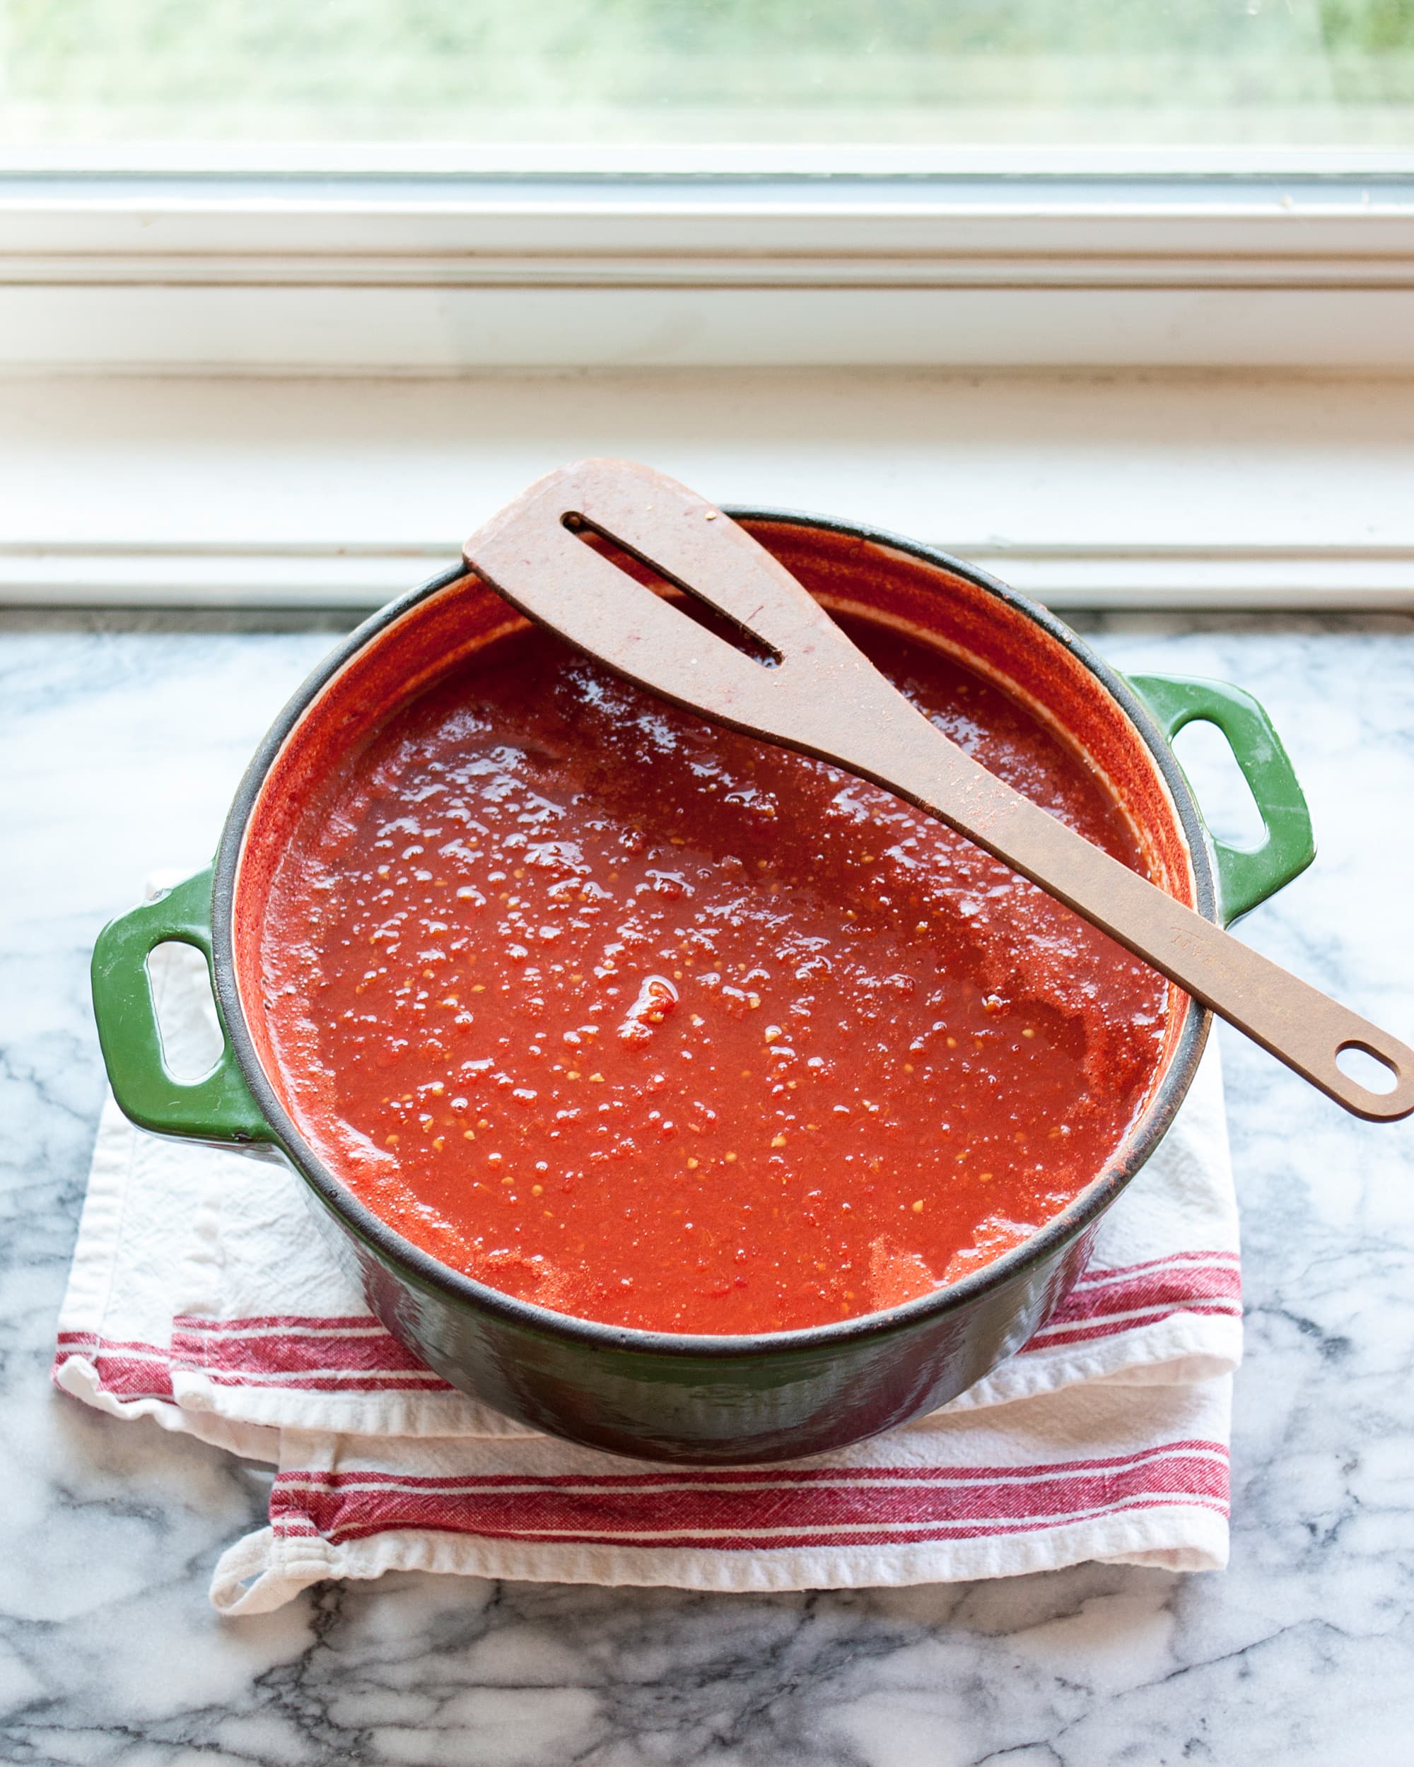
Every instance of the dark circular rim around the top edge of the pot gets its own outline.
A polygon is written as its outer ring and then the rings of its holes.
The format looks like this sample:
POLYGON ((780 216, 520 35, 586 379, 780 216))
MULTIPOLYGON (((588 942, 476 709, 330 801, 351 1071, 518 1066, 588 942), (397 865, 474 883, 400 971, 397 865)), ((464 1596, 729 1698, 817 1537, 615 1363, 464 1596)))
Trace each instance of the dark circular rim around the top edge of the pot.
MULTIPOLYGON (((877 546, 887 546, 894 551, 908 555, 910 558, 919 558, 924 564, 937 565, 953 576, 960 576, 965 581, 974 583, 977 588, 988 590, 1007 608, 1032 620, 1045 633, 1048 633, 1119 701, 1131 724, 1138 730, 1149 753, 1154 756, 1159 774, 1168 786, 1174 806, 1177 808, 1179 822, 1188 841, 1198 912, 1207 919, 1214 919, 1216 891, 1204 822, 1198 815, 1198 806, 1188 781, 1174 758, 1174 751, 1168 747, 1158 730, 1158 724, 1124 677, 1096 656, 1076 633, 1034 601, 1029 601, 1016 590, 1007 588, 1006 583, 999 583, 997 578, 988 576, 986 571, 979 571, 976 565, 951 557, 951 553, 939 551, 935 546, 924 546, 919 541, 889 534, 884 528, 859 527, 857 523, 834 521, 829 516, 811 516, 790 509, 746 509, 739 504, 728 504, 723 505, 723 509, 728 516, 742 521, 771 521, 776 525, 815 528, 829 534, 847 534, 854 539, 863 539, 877 546)), ((947 1313, 967 1309, 983 1295, 997 1288, 1004 1288, 1007 1283, 1025 1276, 1038 1265, 1045 1265, 1059 1256, 1059 1253, 1071 1240, 1075 1240, 1099 1214, 1103 1214, 1105 1209, 1108 1209, 1108 1205, 1144 1166, 1159 1140, 1168 1131, 1193 1080, 1204 1043, 1207 1041, 1211 1014, 1197 1000, 1190 998, 1188 1002, 1184 1025, 1179 1032, 1168 1071, 1159 1080, 1147 1110, 1133 1126, 1121 1157, 1092 1179, 1073 1203, 1062 1209, 1060 1214, 1052 1216, 1045 1226, 1038 1228, 1038 1232, 1015 1248, 1015 1251, 983 1265, 979 1270, 965 1276, 960 1283, 940 1288, 931 1295, 919 1295, 914 1301, 905 1301, 896 1308, 886 1308, 878 1313, 863 1313, 857 1318, 838 1320, 827 1325, 806 1325, 795 1331, 749 1332, 741 1336, 707 1336, 638 1331, 620 1325, 604 1325, 599 1320, 574 1318, 569 1313, 553 1313, 550 1308, 541 1308, 532 1301, 520 1301, 514 1295, 502 1293, 498 1288, 490 1288, 486 1283, 479 1283, 475 1278, 465 1276, 461 1270, 452 1270, 449 1265, 440 1263, 430 1253, 405 1240, 401 1233, 394 1232, 394 1228, 373 1214, 371 1209, 366 1209, 364 1203, 361 1203, 359 1198, 339 1182, 334 1172, 304 1140, 299 1127, 276 1096, 246 1025, 240 993, 235 982, 233 949, 235 882, 240 864, 240 848, 246 834, 246 823, 260 795, 265 776, 285 746, 285 740, 295 730, 320 689, 339 673, 350 657, 376 640, 405 613, 468 574, 474 573, 468 573, 465 564, 456 564, 417 588, 408 590, 408 594, 399 595, 396 601, 391 601, 385 608, 380 608, 375 615, 371 615, 371 618, 364 620, 354 633, 350 633, 350 636, 338 645, 302 682, 251 758, 235 799, 232 800, 232 809, 221 834, 221 846, 216 855, 216 876, 212 887, 212 951, 216 993, 221 1004, 226 1035, 235 1050, 246 1083, 255 1094, 265 1120, 279 1141, 279 1147, 316 1196, 331 1209, 341 1225, 350 1228, 355 1237, 366 1240, 380 1260, 391 1265, 396 1274, 410 1279, 417 1288, 433 1290, 447 1301, 461 1302, 481 1313, 495 1315, 507 1325, 516 1325, 521 1331, 543 1338, 559 1338, 583 1345, 585 1348, 620 1350, 636 1355, 709 1357, 714 1361, 734 1361, 755 1359, 762 1355, 808 1354, 811 1350, 831 1348, 836 1345, 845 1348, 847 1345, 859 1343, 863 1339, 893 1336, 894 1332, 908 1331, 947 1313)), ((490 585, 488 594, 493 594, 490 585)))

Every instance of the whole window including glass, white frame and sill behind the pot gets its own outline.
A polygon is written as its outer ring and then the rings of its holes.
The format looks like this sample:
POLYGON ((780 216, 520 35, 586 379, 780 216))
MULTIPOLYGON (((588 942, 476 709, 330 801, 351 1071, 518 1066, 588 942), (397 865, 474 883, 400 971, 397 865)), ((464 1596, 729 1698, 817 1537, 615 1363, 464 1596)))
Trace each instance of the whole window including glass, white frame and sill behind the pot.
POLYGON ((375 603, 608 447, 1409 606, 1414 0, 0 0, 5 369, 0 603, 375 603))

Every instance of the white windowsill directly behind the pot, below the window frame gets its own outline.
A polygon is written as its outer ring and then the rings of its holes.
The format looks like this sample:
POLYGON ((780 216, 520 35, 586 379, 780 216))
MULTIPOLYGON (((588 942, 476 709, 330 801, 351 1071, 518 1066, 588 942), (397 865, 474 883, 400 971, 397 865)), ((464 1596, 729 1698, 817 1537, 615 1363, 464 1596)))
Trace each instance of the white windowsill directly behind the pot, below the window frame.
POLYGON ((1414 610, 1391 378, 0 382, 0 604, 366 610, 566 459, 931 541, 1053 606, 1414 610))

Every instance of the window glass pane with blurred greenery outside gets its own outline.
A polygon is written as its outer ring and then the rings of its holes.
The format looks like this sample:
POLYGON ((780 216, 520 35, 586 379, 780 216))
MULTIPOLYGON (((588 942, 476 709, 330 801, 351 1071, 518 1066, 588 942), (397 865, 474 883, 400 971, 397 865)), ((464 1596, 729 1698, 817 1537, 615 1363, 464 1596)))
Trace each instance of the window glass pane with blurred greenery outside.
POLYGON ((0 0, 0 148, 1410 145, 1414 0, 0 0))

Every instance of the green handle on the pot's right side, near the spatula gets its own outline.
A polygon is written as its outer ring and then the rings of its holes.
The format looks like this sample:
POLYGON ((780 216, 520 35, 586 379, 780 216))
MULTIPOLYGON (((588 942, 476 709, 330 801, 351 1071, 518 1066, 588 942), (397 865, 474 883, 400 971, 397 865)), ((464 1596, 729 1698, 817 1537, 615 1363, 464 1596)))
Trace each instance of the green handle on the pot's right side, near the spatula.
POLYGON ((1266 839, 1257 846, 1213 839, 1218 912, 1223 926, 1232 926, 1315 859, 1311 813, 1292 763, 1266 710, 1241 687, 1195 675, 1129 675, 1128 680, 1167 740, 1195 721, 1216 724, 1251 786, 1266 839))

